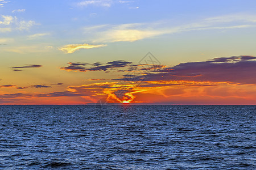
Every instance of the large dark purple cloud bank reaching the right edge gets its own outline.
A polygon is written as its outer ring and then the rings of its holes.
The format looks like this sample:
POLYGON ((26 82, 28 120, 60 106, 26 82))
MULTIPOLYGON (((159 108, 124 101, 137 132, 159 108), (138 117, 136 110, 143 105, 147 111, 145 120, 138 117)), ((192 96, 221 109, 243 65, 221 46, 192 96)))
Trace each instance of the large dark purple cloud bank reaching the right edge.
MULTIPOLYGON (((256 84, 256 57, 233 56, 214 58, 203 62, 180 63, 174 67, 152 70, 146 74, 146 81, 192 80, 210 82, 233 82, 256 84)), ((142 78, 141 75, 137 79, 142 78)), ((137 80, 134 77, 113 80, 137 80)))

